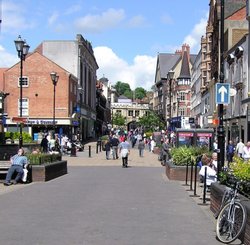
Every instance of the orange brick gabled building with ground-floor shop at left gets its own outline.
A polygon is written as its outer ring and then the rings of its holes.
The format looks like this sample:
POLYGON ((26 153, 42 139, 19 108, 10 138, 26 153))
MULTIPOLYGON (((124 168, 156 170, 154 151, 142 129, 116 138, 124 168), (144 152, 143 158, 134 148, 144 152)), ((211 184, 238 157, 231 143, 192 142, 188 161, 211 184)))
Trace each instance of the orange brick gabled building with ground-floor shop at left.
MULTIPOLYGON (((34 52, 24 61, 22 100, 23 131, 33 136, 53 129, 54 85, 50 77, 53 71, 59 75, 55 93, 55 131, 58 133, 62 128, 68 135, 75 131, 72 115, 76 106, 77 78, 39 52, 34 52)), ((3 75, 3 90, 10 93, 6 98, 6 127, 11 132, 19 132, 19 75, 20 63, 7 69, 3 75)))

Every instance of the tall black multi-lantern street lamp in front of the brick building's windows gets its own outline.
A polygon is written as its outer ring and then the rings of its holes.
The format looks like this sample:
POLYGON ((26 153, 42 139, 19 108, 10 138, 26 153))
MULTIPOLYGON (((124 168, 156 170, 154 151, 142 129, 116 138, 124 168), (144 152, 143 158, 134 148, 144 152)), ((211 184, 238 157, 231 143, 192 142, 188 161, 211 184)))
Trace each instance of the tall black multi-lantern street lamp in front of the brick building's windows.
MULTIPOLYGON (((18 36, 18 39, 14 41, 18 57, 20 58, 20 78, 18 80, 20 87, 20 99, 19 99, 19 116, 23 116, 23 61, 25 60, 26 55, 29 52, 30 46, 26 43, 25 40, 22 40, 21 36, 18 36)), ((20 123, 20 136, 19 136, 19 148, 23 146, 23 130, 22 124, 20 123)))

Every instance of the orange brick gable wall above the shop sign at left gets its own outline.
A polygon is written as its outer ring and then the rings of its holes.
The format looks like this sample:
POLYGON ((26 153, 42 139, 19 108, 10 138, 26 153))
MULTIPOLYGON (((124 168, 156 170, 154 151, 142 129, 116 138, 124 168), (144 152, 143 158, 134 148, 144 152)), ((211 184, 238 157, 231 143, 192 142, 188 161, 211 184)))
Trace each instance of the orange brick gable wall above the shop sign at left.
MULTIPOLYGON (((57 72, 59 75, 56 86, 56 117, 65 118, 70 116, 70 100, 72 100, 71 104, 76 104, 76 96, 72 96, 74 88, 72 91, 70 88, 75 86, 76 90, 76 80, 71 79, 70 73, 66 70, 35 52, 23 62, 23 76, 29 79, 29 86, 23 86, 23 98, 29 99, 29 117, 52 117, 54 96, 54 86, 50 77, 52 71, 57 72)), ((6 109, 9 117, 16 117, 19 113, 19 76, 20 63, 11 67, 4 74, 4 91, 10 93, 6 98, 6 109)))

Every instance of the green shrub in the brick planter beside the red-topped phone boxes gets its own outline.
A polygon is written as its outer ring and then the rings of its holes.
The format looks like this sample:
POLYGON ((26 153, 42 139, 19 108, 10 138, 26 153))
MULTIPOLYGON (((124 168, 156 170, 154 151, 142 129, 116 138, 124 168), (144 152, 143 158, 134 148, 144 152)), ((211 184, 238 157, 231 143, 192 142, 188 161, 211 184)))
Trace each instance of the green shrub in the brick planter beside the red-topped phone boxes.
POLYGON ((211 154, 205 147, 175 147, 171 149, 173 163, 178 166, 185 166, 187 162, 196 161, 196 158, 204 153, 211 154))

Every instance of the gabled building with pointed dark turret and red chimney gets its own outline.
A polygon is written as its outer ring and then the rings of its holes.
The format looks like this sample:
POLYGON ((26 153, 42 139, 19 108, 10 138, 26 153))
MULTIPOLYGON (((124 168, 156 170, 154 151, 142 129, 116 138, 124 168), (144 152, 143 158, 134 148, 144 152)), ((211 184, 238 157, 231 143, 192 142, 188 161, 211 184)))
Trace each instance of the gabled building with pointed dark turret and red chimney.
POLYGON ((195 58, 187 44, 174 54, 157 57, 153 109, 166 122, 169 131, 195 123, 190 121, 191 69, 195 58))

